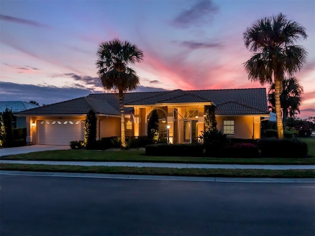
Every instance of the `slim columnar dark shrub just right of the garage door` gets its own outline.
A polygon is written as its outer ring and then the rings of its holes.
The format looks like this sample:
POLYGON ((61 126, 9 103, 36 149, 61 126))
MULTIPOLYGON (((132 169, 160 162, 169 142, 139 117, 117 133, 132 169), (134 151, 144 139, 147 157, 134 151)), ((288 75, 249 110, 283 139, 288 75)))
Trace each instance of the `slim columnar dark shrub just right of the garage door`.
POLYGON ((96 141, 96 122, 95 112, 91 110, 85 118, 84 125, 84 145, 87 149, 89 149, 92 142, 96 141))

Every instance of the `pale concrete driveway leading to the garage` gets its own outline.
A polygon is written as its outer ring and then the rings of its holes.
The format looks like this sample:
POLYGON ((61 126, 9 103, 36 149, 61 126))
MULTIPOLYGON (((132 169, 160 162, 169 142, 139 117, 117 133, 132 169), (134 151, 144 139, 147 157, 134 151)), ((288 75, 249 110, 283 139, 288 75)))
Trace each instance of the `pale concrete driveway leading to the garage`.
POLYGON ((30 145, 16 148, 1 148, 0 156, 29 153, 34 151, 47 151, 47 150, 65 150, 70 149, 69 145, 30 145))

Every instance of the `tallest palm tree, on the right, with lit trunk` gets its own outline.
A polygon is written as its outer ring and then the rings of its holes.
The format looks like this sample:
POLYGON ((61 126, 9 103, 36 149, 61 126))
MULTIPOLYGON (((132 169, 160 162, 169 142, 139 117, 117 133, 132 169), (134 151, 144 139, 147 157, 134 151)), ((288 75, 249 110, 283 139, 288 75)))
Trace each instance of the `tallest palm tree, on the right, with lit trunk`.
POLYGON ((256 20, 243 33, 246 48, 253 52, 244 63, 248 78, 261 85, 275 84, 275 109, 279 139, 284 138, 280 93, 285 74, 292 76, 306 61, 307 52, 294 45, 300 38, 306 39, 305 28, 297 22, 287 20, 279 13, 276 16, 256 20))

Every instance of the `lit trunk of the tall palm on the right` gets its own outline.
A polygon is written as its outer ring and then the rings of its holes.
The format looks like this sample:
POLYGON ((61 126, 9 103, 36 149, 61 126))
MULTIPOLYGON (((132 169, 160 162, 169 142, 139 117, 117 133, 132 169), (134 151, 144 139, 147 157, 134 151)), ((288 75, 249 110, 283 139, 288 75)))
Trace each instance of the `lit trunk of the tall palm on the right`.
POLYGON ((278 131, 278 138, 284 138, 284 126, 282 121, 282 114, 281 114, 281 103, 280 103, 280 90, 281 90, 281 83, 279 75, 274 73, 275 77, 275 109, 276 109, 276 117, 277 117, 277 131, 278 131))

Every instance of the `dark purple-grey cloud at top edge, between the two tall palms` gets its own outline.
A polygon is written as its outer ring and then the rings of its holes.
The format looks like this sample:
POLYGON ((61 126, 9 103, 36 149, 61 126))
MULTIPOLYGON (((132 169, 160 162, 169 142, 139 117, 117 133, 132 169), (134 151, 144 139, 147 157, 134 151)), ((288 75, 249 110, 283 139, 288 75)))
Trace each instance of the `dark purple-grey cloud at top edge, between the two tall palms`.
POLYGON ((172 22, 172 25, 179 28, 200 26, 209 23, 214 14, 219 11, 212 0, 193 1, 195 4, 188 10, 181 12, 172 22))

